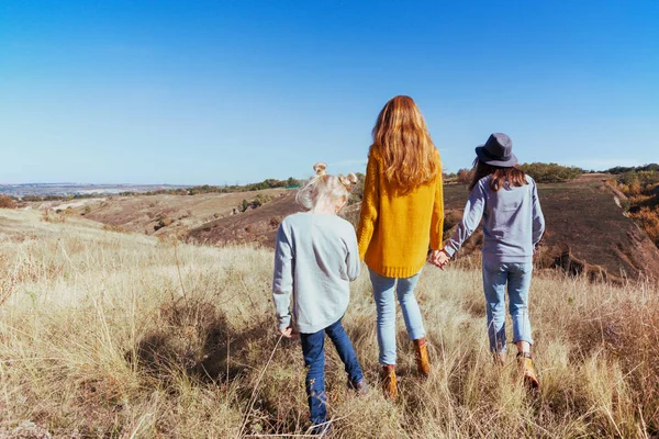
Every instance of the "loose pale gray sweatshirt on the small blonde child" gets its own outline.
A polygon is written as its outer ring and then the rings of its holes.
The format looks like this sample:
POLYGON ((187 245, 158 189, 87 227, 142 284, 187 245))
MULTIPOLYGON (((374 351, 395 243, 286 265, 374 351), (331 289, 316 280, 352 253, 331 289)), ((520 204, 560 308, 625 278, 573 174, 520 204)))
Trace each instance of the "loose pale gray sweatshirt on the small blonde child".
POLYGON ((355 228, 336 215, 297 213, 277 232, 272 299, 279 329, 317 333, 348 307, 350 281, 359 277, 355 228), (290 295, 293 294, 292 322, 290 295))

